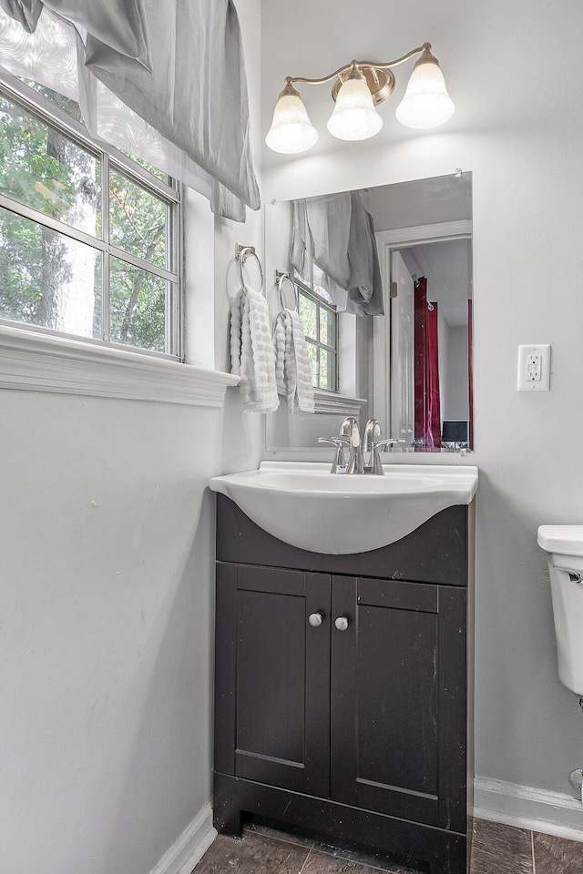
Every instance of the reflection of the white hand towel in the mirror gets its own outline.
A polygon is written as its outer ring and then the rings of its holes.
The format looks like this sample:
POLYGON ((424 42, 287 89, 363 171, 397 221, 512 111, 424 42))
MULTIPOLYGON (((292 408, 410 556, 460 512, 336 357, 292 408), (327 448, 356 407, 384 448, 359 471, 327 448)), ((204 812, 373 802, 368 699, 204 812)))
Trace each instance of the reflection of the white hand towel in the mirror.
POLYGON ((288 410, 314 412, 312 372, 302 319, 295 310, 281 310, 273 330, 277 391, 288 399, 288 410))

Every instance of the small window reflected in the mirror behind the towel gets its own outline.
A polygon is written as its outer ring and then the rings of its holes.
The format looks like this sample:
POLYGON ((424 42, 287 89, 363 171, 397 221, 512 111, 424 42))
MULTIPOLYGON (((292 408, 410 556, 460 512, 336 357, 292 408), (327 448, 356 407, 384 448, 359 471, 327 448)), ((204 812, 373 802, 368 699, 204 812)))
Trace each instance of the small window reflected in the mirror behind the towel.
POLYGON ((338 316, 332 299, 320 285, 308 285, 295 271, 300 315, 308 345, 312 385, 338 390, 338 316))

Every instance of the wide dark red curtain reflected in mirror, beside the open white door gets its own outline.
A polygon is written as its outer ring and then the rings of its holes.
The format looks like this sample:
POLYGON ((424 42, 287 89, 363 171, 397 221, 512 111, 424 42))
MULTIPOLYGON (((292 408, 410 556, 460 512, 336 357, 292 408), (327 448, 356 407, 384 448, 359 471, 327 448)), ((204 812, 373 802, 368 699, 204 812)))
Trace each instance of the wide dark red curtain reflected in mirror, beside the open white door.
POLYGON ((425 449, 441 446, 437 304, 427 302, 427 279, 417 279, 414 290, 415 441, 425 449))

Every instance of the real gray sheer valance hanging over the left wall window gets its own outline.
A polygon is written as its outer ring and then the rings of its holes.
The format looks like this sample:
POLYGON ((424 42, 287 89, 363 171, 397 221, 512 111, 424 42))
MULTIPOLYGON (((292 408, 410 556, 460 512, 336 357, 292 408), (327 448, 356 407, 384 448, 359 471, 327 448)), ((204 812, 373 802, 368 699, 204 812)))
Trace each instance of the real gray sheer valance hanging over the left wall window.
POLYGON ((92 136, 217 214, 260 207, 232 0, 0 0, 0 66, 76 99, 92 136))

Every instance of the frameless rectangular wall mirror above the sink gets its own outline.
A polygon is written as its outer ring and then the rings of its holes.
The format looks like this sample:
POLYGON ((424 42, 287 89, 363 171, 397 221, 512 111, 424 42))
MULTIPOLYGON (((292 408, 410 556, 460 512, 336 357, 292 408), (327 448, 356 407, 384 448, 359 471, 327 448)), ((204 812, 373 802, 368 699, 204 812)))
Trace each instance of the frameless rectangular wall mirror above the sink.
POLYGON ((313 414, 291 415, 281 403, 266 417, 266 449, 320 448, 318 437, 335 436, 353 415, 362 425, 378 419, 384 436, 400 440, 392 452, 472 450, 471 173, 345 194, 372 219, 383 314, 338 309, 320 256, 312 275, 300 275, 290 255, 297 204, 265 206, 271 316, 281 308, 275 271, 287 271, 283 302, 302 314, 316 387, 313 414))

